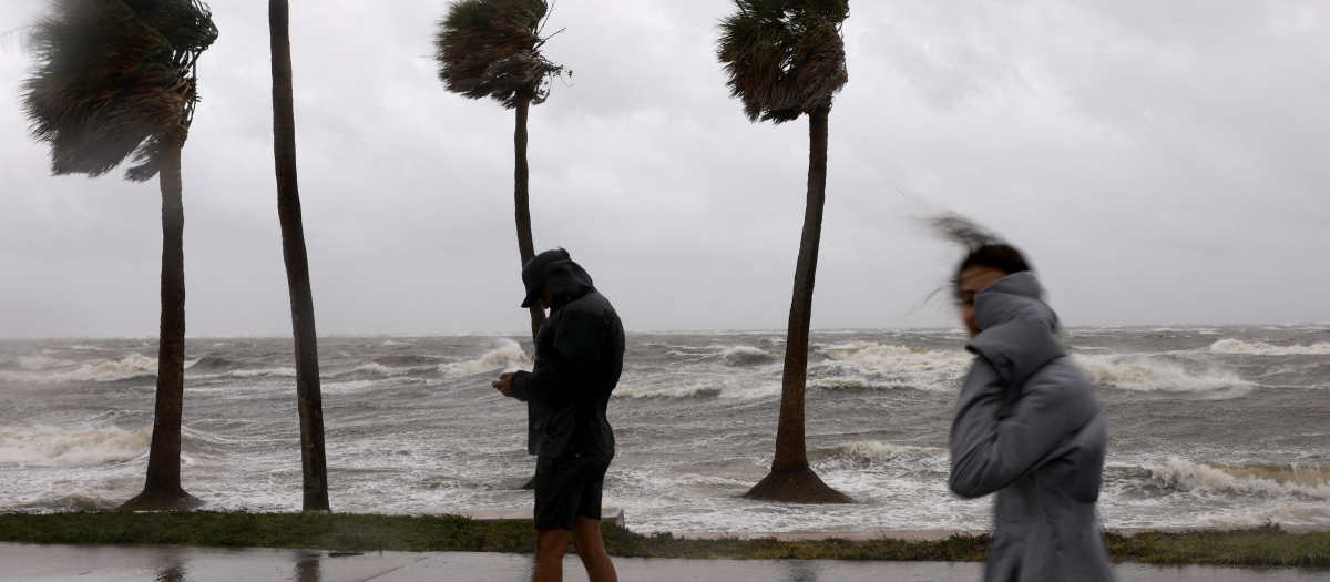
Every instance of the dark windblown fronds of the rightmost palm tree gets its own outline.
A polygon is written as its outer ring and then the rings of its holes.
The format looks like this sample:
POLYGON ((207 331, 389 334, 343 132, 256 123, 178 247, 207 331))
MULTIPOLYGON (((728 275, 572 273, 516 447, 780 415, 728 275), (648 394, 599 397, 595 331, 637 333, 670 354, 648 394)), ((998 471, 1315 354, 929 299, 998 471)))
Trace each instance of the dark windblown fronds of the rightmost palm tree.
POLYGON ((734 0, 717 56, 750 121, 781 124, 830 105, 850 80, 841 23, 849 0, 734 0))

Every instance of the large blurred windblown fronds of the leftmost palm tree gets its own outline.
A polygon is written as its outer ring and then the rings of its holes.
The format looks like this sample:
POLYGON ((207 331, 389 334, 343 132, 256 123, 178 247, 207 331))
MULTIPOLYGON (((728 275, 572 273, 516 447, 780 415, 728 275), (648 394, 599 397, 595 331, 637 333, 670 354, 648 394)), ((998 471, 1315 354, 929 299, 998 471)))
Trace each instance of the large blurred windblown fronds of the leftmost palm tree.
POLYGON ((198 0, 55 0, 32 31, 37 65, 23 84, 33 138, 51 144, 52 173, 157 174, 162 141, 184 144, 194 64, 217 40, 198 0))

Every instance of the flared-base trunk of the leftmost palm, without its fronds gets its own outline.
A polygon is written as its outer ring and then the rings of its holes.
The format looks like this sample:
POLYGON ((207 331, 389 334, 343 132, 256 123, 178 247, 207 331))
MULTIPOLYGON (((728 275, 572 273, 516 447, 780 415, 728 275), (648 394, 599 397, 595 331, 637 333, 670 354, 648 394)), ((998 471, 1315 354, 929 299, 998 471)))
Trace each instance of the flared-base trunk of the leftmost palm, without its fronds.
POLYGON ((189 509, 202 502, 180 486, 180 424, 185 392, 185 206, 181 198, 181 142, 168 138, 158 183, 162 193, 161 339, 157 353, 157 407, 144 492, 120 509, 189 509))

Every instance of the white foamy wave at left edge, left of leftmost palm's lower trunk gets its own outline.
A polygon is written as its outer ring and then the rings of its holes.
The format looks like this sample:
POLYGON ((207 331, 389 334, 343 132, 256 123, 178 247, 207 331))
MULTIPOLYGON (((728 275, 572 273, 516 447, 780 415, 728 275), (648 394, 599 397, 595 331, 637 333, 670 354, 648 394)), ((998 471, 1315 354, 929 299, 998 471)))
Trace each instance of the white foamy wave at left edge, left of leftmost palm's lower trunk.
POLYGON ((104 465, 138 458, 152 444, 153 427, 0 427, 0 462, 104 465))

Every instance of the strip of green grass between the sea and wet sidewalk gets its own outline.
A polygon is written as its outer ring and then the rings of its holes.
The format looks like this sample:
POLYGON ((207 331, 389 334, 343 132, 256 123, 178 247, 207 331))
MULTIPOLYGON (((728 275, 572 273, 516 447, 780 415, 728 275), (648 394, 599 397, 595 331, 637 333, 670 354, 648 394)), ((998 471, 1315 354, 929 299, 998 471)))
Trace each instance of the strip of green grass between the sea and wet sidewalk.
MULTIPOLYGON (((730 559, 982 561, 988 535, 900 539, 684 539, 601 526, 612 555, 730 559)), ((178 543, 229 547, 306 547, 334 551, 535 550, 529 521, 455 516, 302 514, 242 512, 0 513, 0 542, 178 543)), ((1293 534, 1267 525, 1242 530, 1109 533, 1115 561, 1222 566, 1330 566, 1330 532, 1293 534)))

